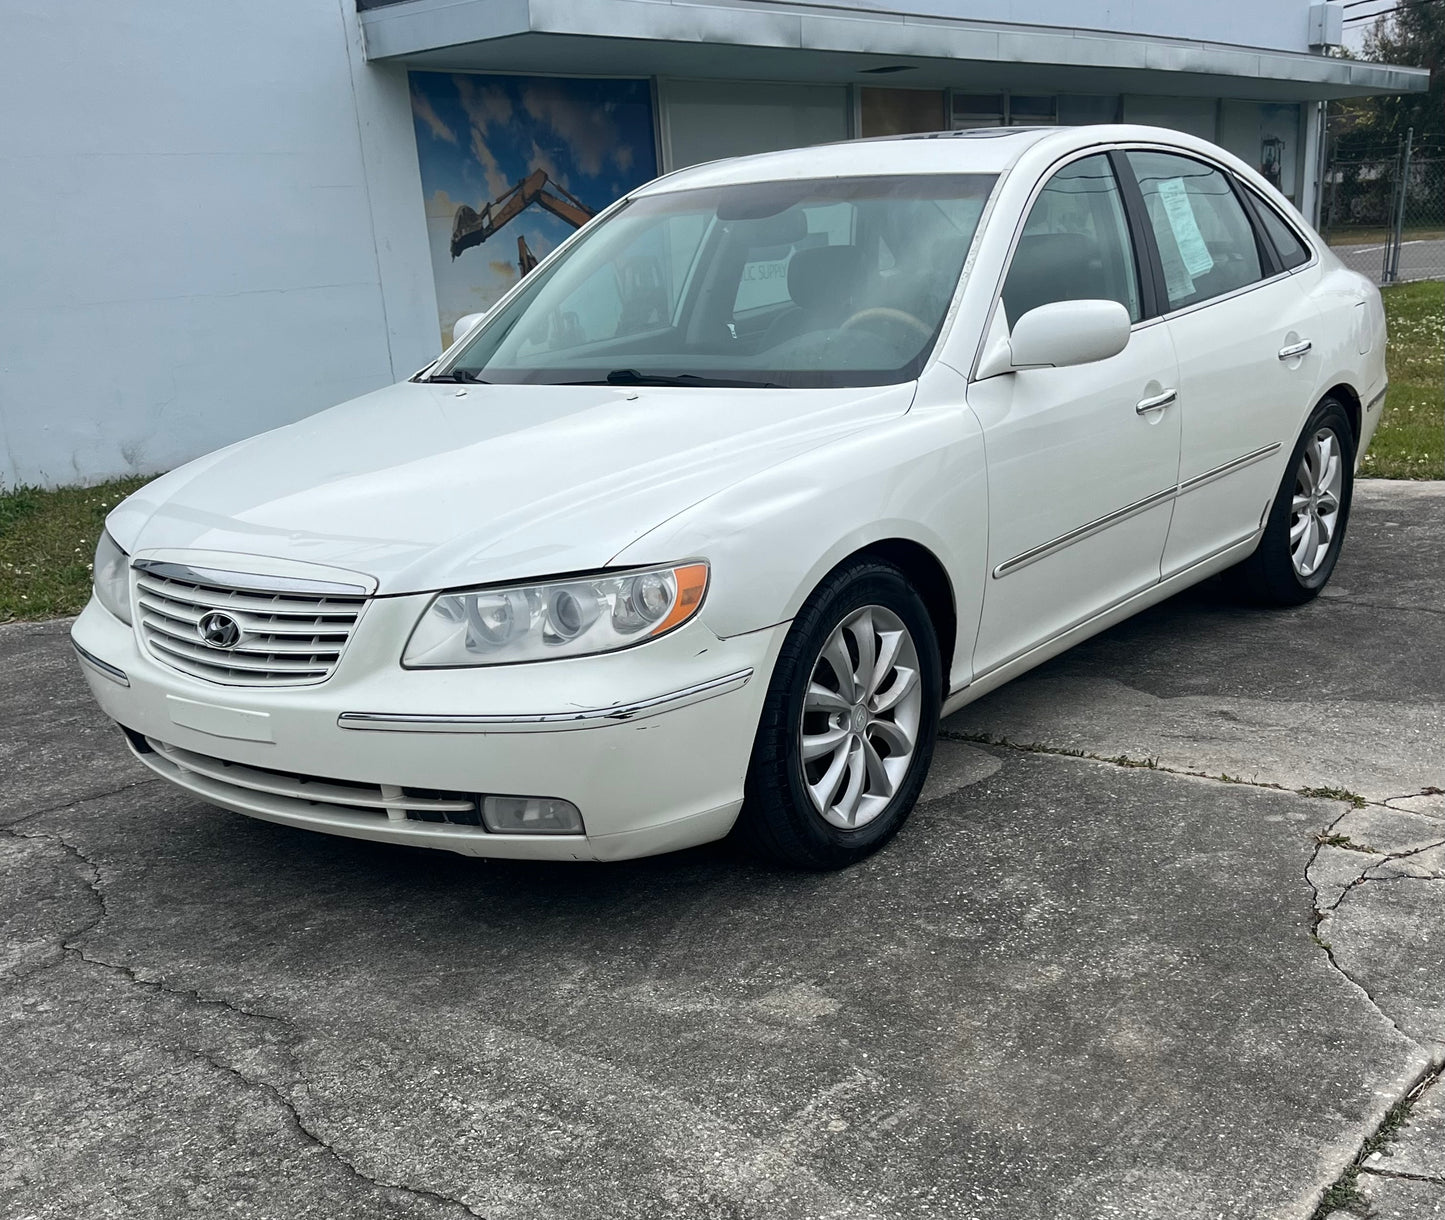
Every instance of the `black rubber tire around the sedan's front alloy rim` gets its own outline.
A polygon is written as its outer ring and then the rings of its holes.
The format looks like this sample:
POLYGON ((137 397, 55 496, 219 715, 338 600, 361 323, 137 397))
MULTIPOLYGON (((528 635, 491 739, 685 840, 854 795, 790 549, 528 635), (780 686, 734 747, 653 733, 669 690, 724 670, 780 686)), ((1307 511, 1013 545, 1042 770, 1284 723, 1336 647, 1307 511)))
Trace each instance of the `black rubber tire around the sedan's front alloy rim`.
POLYGON ((864 561, 828 577, 793 620, 779 653, 749 768, 744 815, 772 822, 759 827, 763 833, 754 835, 769 854, 803 867, 841 867, 892 838, 907 820, 928 778, 942 704, 941 682, 938 637, 928 607, 897 568, 864 561), (913 636, 923 687, 922 711, 913 760, 887 808, 858 830, 842 830, 825 822, 808 796, 798 734, 818 653, 837 626, 864 606, 887 607, 913 636), (764 734, 770 740, 764 740, 764 734))

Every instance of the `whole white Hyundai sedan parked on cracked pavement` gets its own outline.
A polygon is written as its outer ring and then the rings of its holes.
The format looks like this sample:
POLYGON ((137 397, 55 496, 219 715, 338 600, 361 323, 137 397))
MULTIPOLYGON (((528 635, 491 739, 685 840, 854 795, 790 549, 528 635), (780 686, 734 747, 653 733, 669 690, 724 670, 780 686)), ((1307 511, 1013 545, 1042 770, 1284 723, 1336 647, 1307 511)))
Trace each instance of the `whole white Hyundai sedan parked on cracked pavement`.
POLYGON ((410 380, 158 478, 74 627, 152 770, 474 856, 883 844, 941 716, 1205 577, 1329 580, 1384 315, 1150 127, 717 162, 410 380))

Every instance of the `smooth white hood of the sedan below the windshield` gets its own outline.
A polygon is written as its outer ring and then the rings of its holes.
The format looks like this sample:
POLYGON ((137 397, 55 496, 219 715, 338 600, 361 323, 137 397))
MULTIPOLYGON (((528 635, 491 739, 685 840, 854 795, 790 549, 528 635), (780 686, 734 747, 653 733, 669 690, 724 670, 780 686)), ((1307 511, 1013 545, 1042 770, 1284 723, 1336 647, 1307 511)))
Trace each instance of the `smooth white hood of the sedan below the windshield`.
POLYGON ((902 415, 912 398, 912 383, 403 382, 173 470, 107 528, 131 555, 324 564, 366 572, 383 593, 585 571, 750 474, 902 415))

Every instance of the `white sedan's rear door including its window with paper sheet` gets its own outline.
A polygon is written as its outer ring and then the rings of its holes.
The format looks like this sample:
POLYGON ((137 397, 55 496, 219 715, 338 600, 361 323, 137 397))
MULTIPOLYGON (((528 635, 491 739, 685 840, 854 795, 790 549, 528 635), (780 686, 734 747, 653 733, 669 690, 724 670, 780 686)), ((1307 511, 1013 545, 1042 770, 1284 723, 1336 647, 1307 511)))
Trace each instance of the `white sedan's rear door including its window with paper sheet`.
POLYGON ((1221 166, 1181 153, 1126 155, 1179 358, 1179 494, 1163 577, 1263 523, 1316 390, 1315 306, 1221 166))

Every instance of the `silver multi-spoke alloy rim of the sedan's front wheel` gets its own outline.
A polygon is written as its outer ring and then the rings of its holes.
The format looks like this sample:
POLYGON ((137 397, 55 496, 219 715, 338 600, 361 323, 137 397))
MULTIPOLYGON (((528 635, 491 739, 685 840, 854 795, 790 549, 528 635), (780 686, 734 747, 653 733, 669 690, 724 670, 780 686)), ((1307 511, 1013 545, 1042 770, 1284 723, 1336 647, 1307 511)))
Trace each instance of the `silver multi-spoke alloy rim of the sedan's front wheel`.
POLYGON ((923 707, 918 648, 903 620, 864 606, 828 636, 803 695, 803 788, 829 825, 857 830, 903 783, 923 707))

